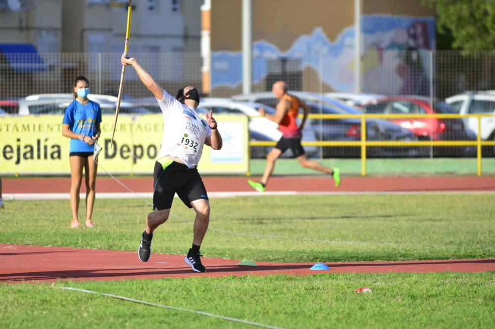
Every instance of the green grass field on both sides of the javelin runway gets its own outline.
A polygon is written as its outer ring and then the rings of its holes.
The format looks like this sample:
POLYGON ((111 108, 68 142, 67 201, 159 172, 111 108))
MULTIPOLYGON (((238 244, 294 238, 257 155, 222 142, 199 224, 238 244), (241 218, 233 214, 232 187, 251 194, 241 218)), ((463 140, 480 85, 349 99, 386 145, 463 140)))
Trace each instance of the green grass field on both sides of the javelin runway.
MULTIPOLYGON (((201 247, 210 257, 296 262, 495 257, 493 194, 246 197, 212 199, 211 206, 201 247)), ((0 243, 135 251, 148 210, 138 199, 97 200, 93 219, 99 227, 72 230, 67 201, 7 202, 0 211, 0 243)), ((180 218, 171 217, 156 231, 155 252, 183 254, 190 247, 192 224, 185 220, 192 221, 194 213, 176 199, 173 214, 180 218)), ((60 281, 1 284, 0 328, 248 327, 61 287, 283 328, 491 328, 495 312, 494 272, 60 281), (374 292, 355 294, 359 287, 374 292)))

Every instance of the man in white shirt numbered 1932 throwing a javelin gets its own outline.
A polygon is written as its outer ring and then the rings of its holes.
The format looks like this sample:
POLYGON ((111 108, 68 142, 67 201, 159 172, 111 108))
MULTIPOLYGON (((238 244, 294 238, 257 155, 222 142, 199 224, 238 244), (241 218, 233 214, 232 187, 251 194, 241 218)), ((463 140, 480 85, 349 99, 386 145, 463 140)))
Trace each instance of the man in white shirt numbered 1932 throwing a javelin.
POLYGON ((188 86, 179 89, 176 98, 169 95, 134 58, 122 55, 123 65, 131 65, 141 82, 153 93, 163 113, 164 132, 160 153, 154 166, 153 211, 146 217, 146 229, 141 238, 138 255, 148 261, 151 255, 153 231, 163 224, 170 214, 174 195, 196 211, 193 246, 184 261, 195 272, 206 272, 201 263, 199 248, 208 228, 210 205, 203 181, 198 173, 198 162, 203 145, 213 150, 222 148, 222 137, 212 111, 206 120, 199 117, 198 90, 188 86))

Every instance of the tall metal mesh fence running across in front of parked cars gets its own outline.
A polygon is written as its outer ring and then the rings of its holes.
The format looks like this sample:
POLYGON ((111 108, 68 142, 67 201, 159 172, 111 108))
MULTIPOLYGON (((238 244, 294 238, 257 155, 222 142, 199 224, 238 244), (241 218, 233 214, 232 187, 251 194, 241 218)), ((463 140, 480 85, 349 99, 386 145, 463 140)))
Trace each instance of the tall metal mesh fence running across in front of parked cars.
MULTIPOLYGON (((306 52, 301 56, 277 57, 266 52, 253 57, 252 91, 268 93, 251 100, 273 107, 277 100, 269 91, 273 82, 283 80, 290 90, 310 95, 305 101, 311 114, 323 115, 306 123, 305 143, 312 157, 362 157, 362 144, 335 146, 341 142, 361 143, 362 138, 367 140, 367 157, 476 157, 478 138, 486 142, 495 140, 495 120, 489 116, 480 121, 473 116, 441 117, 451 114, 444 100, 453 95, 460 95, 460 100, 452 105, 463 115, 494 113, 495 92, 479 92, 495 90, 494 51, 368 50, 361 59, 358 82, 353 57, 344 55, 306 52), (378 95, 353 94, 356 91, 378 95), (478 95, 483 97, 477 99, 478 95), (355 112, 361 111, 355 109, 356 103, 362 105, 365 113, 378 116, 368 117, 363 126, 357 116, 361 112, 355 112), (332 115, 340 116, 329 119, 332 115), (449 141, 466 143, 443 143, 449 141), (370 146, 382 142, 403 143, 370 146), (414 142, 424 143, 415 147, 405 145, 414 142)), ((170 93, 185 85, 203 88, 199 53, 133 56, 170 93)), ((230 60, 228 56, 231 55, 212 55, 208 96, 231 97, 242 92, 242 62, 239 57, 230 60)), ((8 109, 8 100, 15 103, 32 94, 71 93, 74 79, 80 74, 90 80, 92 93, 116 96, 120 69, 119 53, 0 54, 0 102, 4 101, 3 108, 8 109)), ((150 97, 134 70, 127 70, 123 99, 150 97)), ((262 158, 266 145, 271 144, 255 146, 261 145, 256 142, 273 138, 253 133, 251 140, 251 154, 262 158)), ((494 155, 493 149, 484 144, 482 155, 494 155)))

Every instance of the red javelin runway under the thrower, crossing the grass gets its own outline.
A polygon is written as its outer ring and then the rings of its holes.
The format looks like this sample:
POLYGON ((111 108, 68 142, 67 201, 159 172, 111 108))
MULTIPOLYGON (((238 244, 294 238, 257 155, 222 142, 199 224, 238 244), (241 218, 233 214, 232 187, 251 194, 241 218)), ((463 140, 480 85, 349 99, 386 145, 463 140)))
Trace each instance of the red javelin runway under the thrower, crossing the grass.
POLYGON ((148 262, 137 252, 0 244, 0 282, 53 282, 57 279, 125 280, 229 275, 306 276, 321 273, 484 272, 495 271, 495 259, 415 260, 327 263, 330 270, 310 270, 311 263, 257 262, 237 265, 239 260, 203 258, 206 273, 196 273, 182 255, 152 254, 148 262))

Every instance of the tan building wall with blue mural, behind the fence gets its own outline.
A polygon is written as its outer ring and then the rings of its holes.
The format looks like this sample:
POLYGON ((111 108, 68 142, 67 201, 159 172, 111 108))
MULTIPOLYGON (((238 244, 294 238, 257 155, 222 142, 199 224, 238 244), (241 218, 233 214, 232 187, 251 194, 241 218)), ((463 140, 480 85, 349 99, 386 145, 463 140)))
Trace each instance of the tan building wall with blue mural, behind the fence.
MULTIPOLYGON (((211 0, 211 63, 203 75, 212 95, 242 92, 242 2, 211 0)), ((407 66, 402 52, 435 48, 434 12, 421 0, 251 3, 253 91, 271 90, 282 79, 305 91, 395 93, 400 85, 389 71, 407 66)))

